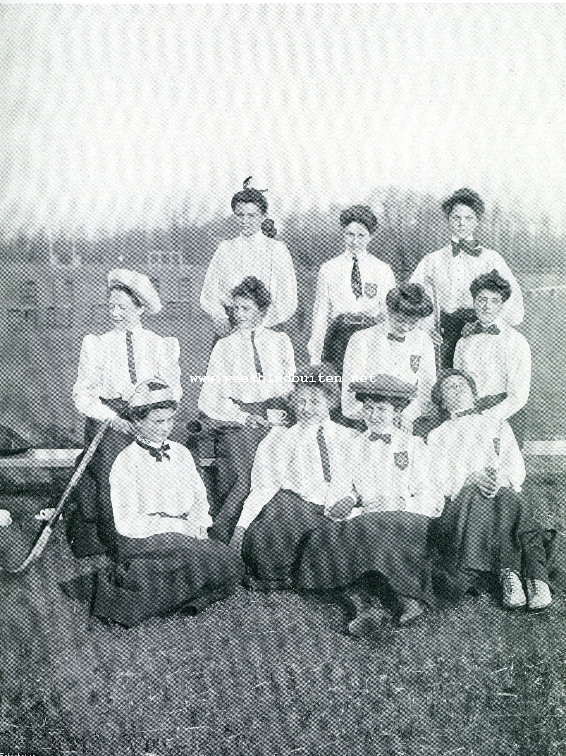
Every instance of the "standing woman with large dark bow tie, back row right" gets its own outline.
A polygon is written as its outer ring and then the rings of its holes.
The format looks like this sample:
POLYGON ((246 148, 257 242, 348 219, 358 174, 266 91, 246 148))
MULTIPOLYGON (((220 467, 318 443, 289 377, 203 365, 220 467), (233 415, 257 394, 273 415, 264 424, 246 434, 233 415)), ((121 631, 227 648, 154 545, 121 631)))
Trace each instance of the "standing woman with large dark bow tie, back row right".
POLYGON ((442 367, 453 367, 454 349, 460 336, 468 336, 476 319, 470 284, 483 273, 496 268, 509 280, 512 295, 505 303, 501 317, 506 324, 515 326, 524 318, 521 287, 503 257, 493 249, 480 246, 473 234, 484 215, 485 205, 477 192, 464 187, 444 200, 442 209, 452 232, 450 244, 426 255, 416 266, 411 282, 420 283, 426 293, 431 288, 425 276, 435 282, 438 304, 441 308, 441 333, 437 333, 432 316, 422 321, 436 344, 442 344, 442 367))

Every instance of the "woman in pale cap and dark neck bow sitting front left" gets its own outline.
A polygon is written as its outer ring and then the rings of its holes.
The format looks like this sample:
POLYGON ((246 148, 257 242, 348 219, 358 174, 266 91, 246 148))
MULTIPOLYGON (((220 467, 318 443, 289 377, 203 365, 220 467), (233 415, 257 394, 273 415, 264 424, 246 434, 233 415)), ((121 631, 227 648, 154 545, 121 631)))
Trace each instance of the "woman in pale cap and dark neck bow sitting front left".
POLYGON ((233 550, 207 538, 212 519, 193 457, 166 443, 177 406, 164 381, 139 384, 130 399, 135 442, 110 472, 119 563, 98 574, 91 612, 128 627, 196 614, 233 593, 244 574, 233 550))

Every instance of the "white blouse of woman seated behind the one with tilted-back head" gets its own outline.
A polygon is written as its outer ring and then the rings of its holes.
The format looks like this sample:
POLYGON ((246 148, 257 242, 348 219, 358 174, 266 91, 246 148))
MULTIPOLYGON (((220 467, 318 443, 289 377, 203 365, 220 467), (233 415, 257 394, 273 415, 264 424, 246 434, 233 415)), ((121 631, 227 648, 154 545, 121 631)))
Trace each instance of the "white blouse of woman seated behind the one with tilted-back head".
POLYGON ((507 420, 527 404, 530 391, 530 347, 522 333, 497 318, 494 325, 501 333, 481 333, 459 339, 454 352, 454 367, 475 380, 478 396, 507 393, 507 398, 484 410, 485 417, 507 420))

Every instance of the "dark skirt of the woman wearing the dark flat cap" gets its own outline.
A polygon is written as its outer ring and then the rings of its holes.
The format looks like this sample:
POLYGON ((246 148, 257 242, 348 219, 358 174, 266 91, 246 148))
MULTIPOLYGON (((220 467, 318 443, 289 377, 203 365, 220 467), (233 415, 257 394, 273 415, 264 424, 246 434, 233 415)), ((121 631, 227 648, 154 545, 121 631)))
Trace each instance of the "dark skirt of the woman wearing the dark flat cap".
POLYGON ((424 515, 402 511, 330 522, 309 538, 297 588, 329 590, 378 573, 394 593, 434 608, 428 522, 424 515))

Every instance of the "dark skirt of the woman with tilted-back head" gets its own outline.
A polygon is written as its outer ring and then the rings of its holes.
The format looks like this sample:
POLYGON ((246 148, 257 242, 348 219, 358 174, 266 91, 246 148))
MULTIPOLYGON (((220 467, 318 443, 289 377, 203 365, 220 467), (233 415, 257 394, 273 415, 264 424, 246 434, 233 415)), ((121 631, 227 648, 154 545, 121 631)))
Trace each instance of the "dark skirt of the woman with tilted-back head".
POLYGON ((447 568, 497 573, 514 569, 548 583, 543 534, 530 506, 511 488, 493 499, 466 486, 431 522, 431 544, 447 568))

